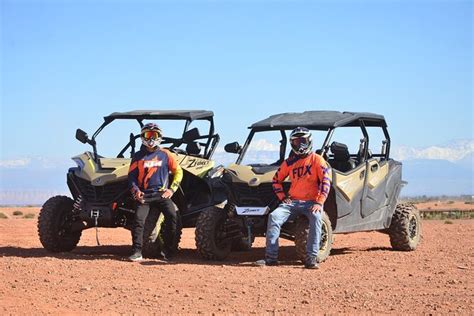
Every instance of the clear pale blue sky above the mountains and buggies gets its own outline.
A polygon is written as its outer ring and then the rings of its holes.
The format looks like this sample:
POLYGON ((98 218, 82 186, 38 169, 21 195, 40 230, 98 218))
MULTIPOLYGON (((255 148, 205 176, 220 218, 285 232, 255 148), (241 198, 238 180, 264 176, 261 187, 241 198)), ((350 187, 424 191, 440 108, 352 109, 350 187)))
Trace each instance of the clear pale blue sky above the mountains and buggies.
POLYGON ((396 145, 473 138, 472 1, 0 3, 1 160, 71 157, 76 128, 136 109, 212 110, 221 145, 305 110, 383 114, 396 145))

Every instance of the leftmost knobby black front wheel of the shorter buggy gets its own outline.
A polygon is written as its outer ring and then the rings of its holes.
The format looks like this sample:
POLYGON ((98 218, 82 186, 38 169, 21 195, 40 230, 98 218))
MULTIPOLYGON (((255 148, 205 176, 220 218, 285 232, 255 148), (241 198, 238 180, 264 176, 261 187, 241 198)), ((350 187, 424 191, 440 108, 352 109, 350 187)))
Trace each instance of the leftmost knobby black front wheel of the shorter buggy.
POLYGON ((60 195, 44 203, 38 217, 38 235, 45 249, 63 252, 76 248, 82 230, 72 230, 73 204, 71 198, 60 195))

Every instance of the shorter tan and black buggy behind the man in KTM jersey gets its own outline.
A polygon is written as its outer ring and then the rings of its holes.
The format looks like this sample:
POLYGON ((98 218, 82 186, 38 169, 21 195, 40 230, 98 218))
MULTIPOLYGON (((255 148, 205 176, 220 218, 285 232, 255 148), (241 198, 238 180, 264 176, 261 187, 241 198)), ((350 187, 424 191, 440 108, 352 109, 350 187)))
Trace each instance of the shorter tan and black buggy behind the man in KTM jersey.
MULTIPOLYGON (((134 135, 133 132, 140 131, 146 123, 160 125, 165 121, 184 125, 179 137, 165 136, 162 142, 162 147, 168 148, 183 168, 181 186, 173 195, 178 208, 179 242, 181 228, 194 227, 203 210, 222 203, 226 198, 224 188, 219 185, 222 168, 215 167, 211 160, 219 142, 213 116, 213 112, 201 110, 115 112, 104 117, 104 122, 91 138, 78 129, 76 138, 91 145, 92 152, 72 158, 77 164, 67 172, 67 185, 72 198, 54 196, 44 203, 38 218, 39 239, 43 247, 52 252, 71 251, 78 244, 84 229, 131 228, 136 205, 128 188, 128 169, 132 155, 141 144, 139 133, 134 135), (125 131, 124 139, 115 139, 122 142, 123 147, 116 151, 118 154, 114 157, 101 156, 97 137, 107 128, 125 121, 127 126, 133 127, 125 131), (201 135, 199 128, 203 127, 206 131, 201 135)), ((118 128, 118 131, 123 130, 121 125, 118 128)), ((116 132, 112 136, 117 138, 116 132)), ((162 220, 158 216, 156 212, 150 212, 145 223, 143 255, 147 257, 160 253, 162 220)))

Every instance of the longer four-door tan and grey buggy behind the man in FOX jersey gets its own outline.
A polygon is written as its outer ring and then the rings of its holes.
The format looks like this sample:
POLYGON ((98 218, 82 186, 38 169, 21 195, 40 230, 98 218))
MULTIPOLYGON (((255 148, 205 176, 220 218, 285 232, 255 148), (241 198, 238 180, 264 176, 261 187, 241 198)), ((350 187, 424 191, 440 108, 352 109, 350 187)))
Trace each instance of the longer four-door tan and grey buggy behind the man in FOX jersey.
MULTIPOLYGON (((224 259, 231 250, 249 250, 256 236, 265 236, 268 214, 278 206, 272 178, 288 157, 288 131, 299 126, 312 130, 313 142, 322 141, 316 152, 332 167, 318 261, 329 256, 334 233, 381 231, 389 234, 394 249, 414 250, 421 236, 420 215, 413 205, 398 203, 406 182, 401 179, 402 164, 390 158, 385 118, 372 113, 307 111, 270 116, 249 127, 243 146, 238 142, 225 146, 227 152, 239 156, 223 175, 227 204, 199 217, 196 245, 201 256, 224 259), (269 144, 271 139, 274 142, 269 144)), ((288 190, 289 183, 284 188, 288 190)), ((294 240, 303 262, 307 234, 305 217, 287 222, 280 234, 294 240)))

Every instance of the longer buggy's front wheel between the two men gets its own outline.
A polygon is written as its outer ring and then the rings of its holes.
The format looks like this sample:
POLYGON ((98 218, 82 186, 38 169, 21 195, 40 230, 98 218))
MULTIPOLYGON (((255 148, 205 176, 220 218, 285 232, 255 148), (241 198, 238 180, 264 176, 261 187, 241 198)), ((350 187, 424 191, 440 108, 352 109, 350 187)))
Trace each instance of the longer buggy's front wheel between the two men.
POLYGON ((212 207, 199 215, 196 223, 196 248, 204 259, 223 260, 231 250, 232 241, 226 239, 226 213, 212 207))

